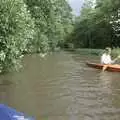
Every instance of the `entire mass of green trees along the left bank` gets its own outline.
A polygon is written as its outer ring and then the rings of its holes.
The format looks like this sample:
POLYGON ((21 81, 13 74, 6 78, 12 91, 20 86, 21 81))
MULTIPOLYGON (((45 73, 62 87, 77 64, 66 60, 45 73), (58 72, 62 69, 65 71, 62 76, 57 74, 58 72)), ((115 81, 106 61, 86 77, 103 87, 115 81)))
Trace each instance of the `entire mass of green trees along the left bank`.
POLYGON ((0 72, 20 67, 23 53, 62 46, 72 24, 66 0, 0 0, 0 72))

